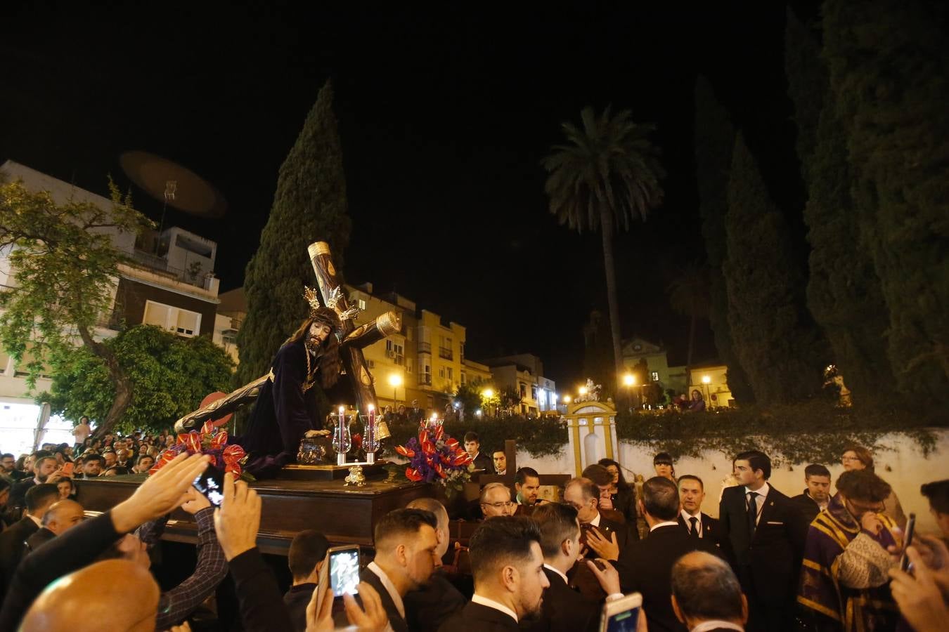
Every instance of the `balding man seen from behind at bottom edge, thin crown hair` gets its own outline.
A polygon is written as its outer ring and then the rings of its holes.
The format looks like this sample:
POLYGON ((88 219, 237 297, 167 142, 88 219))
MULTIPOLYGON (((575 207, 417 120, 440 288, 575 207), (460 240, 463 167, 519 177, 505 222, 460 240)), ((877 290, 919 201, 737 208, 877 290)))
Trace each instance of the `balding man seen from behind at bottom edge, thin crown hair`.
POLYGON ((744 630, 748 601, 732 569, 715 555, 686 553, 672 567, 672 609, 690 630, 744 630))

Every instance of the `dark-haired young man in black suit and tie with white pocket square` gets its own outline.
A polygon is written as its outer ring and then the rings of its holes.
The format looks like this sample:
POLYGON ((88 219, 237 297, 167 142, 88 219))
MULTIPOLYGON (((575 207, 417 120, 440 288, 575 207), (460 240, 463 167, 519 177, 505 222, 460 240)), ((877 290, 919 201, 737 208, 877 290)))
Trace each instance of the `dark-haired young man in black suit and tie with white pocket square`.
POLYGON ((748 597, 748 629, 790 629, 808 523, 791 498, 768 484, 767 455, 742 452, 733 468, 738 486, 722 492, 718 521, 748 597))

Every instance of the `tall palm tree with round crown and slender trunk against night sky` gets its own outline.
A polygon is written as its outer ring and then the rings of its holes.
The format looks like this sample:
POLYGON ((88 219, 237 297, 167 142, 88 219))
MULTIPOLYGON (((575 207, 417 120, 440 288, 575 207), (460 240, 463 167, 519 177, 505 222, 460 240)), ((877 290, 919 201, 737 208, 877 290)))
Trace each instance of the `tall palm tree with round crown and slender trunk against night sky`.
POLYGON ((645 220, 649 209, 661 203, 659 180, 664 172, 659 164, 659 152, 647 137, 656 129, 655 125, 633 122, 629 110, 613 117, 609 107, 597 117, 593 108, 587 106, 580 118, 582 129, 570 122, 561 124, 567 142, 554 145, 542 162, 549 174, 544 190, 550 198, 550 212, 557 216, 560 224, 580 233, 600 229, 617 392, 620 392, 623 352, 613 235, 617 228, 629 230, 631 219, 645 220))

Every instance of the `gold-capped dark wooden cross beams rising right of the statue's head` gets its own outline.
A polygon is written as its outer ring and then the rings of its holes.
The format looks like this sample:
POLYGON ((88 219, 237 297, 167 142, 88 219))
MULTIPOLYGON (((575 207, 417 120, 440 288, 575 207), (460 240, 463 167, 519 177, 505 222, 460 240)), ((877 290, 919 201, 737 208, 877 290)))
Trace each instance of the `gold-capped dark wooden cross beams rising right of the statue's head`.
POLYGON ((340 359, 356 397, 356 409, 360 413, 365 413, 370 404, 377 407, 378 404, 376 402, 376 388, 372 374, 365 363, 363 348, 387 335, 400 333, 402 331, 402 318, 398 312, 386 312, 376 318, 374 322, 356 327, 352 321, 352 316, 347 314, 350 310, 349 299, 345 296, 340 281, 336 277, 336 268, 333 266, 329 244, 326 244, 326 242, 309 244, 307 252, 309 253, 309 261, 313 265, 313 273, 316 275, 316 282, 320 288, 320 296, 323 297, 324 304, 333 302, 330 297, 336 298, 333 309, 340 316, 343 323, 340 359))

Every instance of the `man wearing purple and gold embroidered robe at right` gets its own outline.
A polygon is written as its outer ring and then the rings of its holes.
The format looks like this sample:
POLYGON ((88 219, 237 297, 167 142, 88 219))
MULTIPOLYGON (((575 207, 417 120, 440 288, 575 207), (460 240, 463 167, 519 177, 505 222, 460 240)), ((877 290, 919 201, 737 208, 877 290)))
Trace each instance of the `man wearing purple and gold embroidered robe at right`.
POLYGON ((818 629, 891 630, 899 619, 889 590, 896 521, 884 514, 889 484, 869 470, 837 479, 837 494, 810 524, 797 602, 818 629))

